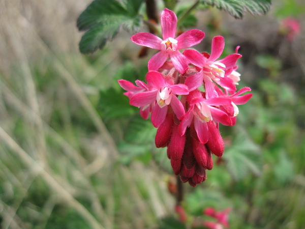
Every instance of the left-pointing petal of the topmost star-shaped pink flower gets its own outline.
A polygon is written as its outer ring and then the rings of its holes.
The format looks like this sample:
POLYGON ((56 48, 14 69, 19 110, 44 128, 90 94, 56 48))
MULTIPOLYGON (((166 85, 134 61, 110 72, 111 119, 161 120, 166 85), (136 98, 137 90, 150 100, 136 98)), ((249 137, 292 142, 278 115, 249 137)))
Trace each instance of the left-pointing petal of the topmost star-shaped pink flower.
POLYGON ((154 34, 137 33, 133 35, 130 39, 133 43, 136 43, 138 45, 161 50, 162 39, 154 34))

